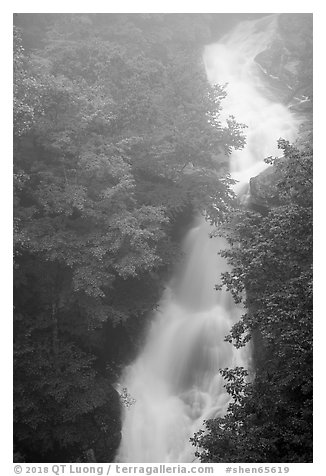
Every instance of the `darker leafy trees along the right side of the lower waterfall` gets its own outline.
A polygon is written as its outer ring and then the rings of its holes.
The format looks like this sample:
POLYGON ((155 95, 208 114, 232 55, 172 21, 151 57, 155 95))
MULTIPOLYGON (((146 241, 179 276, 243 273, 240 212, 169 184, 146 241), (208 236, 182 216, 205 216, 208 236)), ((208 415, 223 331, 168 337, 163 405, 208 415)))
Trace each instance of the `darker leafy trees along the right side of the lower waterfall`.
POLYGON ((202 462, 312 462, 312 149, 279 141, 266 213, 230 214, 223 283, 246 310, 226 336, 253 369, 221 369, 231 403, 192 442, 202 462))

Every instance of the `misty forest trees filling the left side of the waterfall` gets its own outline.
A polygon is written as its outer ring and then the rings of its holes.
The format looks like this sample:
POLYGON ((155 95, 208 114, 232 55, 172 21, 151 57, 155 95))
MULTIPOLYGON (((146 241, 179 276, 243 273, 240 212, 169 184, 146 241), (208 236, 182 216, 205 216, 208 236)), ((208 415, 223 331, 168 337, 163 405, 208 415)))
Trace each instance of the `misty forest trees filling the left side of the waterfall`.
POLYGON ((178 257, 178 218, 226 215, 244 126, 219 120, 205 16, 15 23, 15 459, 108 461, 113 384, 178 257))

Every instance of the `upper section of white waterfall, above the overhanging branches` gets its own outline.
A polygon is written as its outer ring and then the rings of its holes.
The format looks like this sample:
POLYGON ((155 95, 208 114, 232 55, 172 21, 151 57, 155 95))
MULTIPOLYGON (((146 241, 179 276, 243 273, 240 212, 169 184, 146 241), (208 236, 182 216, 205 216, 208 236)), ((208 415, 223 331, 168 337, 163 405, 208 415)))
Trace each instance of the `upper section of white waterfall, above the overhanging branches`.
POLYGON ((280 137, 291 141, 297 133, 298 121, 294 115, 264 95, 260 68, 254 61, 275 35, 277 17, 275 14, 241 22, 204 52, 208 80, 228 83, 221 116, 232 114, 238 122, 248 126, 245 130, 247 146, 231 156, 232 177, 239 181, 236 191, 267 167, 263 158, 279 155, 277 140, 280 137))

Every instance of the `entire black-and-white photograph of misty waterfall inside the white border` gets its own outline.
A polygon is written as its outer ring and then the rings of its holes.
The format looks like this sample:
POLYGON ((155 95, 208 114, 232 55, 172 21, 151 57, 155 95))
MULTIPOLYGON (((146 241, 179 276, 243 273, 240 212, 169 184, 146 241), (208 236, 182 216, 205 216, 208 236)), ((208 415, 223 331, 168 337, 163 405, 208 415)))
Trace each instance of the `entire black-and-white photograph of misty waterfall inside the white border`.
POLYGON ((313 8, 84 6, 12 15, 12 467, 299 474, 313 8))

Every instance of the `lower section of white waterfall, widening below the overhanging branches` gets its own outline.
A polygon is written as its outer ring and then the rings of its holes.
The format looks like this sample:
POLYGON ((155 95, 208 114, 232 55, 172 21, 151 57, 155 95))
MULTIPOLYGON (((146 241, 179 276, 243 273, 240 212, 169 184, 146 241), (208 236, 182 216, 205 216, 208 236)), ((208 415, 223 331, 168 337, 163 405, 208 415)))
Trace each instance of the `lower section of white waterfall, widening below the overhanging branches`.
POLYGON ((223 342, 240 309, 214 290, 221 243, 209 239, 205 221, 188 234, 186 260, 166 290, 147 344, 127 370, 123 386, 135 398, 126 409, 118 460, 190 462, 189 438, 203 419, 222 414, 228 402, 218 369, 243 365, 240 352, 223 342))

